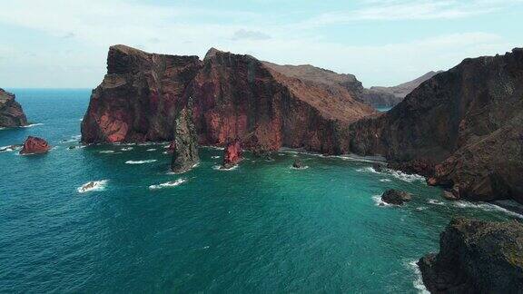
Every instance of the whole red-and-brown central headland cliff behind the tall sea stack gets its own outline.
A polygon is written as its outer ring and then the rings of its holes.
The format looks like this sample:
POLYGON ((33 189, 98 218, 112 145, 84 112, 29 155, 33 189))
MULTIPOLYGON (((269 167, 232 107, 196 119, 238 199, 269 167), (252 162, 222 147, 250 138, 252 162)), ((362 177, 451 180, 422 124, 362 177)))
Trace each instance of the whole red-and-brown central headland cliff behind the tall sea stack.
POLYGON ((249 55, 212 49, 200 61, 116 45, 107 64, 82 124, 86 143, 171 141, 176 113, 192 97, 202 144, 238 138, 247 149, 340 153, 350 122, 374 112, 344 89, 286 76, 249 55))

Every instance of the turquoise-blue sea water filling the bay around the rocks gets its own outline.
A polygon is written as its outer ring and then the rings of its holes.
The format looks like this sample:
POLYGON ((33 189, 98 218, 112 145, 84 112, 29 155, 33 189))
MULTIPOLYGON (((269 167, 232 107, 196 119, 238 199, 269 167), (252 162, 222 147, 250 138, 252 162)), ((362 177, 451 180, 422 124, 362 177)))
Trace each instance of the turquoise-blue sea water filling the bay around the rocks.
POLYGON ((514 217, 350 158, 247 154, 218 171, 222 151, 202 148, 198 167, 174 175, 165 144, 69 150, 90 91, 10 90, 40 124, 1 130, 0 146, 36 135, 54 149, 0 153, 1 291, 415 293, 412 263, 451 217, 514 217), (296 157, 309 168, 292 170, 296 157), (78 192, 88 181, 105 185, 78 192), (414 200, 379 206, 389 188, 414 200))

